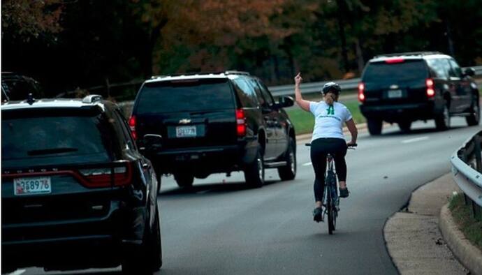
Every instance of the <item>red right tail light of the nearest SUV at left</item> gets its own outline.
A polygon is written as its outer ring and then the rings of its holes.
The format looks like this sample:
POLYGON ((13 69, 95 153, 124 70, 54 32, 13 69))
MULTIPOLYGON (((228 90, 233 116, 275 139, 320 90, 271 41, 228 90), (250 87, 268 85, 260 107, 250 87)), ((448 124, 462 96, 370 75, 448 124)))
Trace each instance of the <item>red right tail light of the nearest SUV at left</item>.
POLYGON ((87 187, 110 187, 112 177, 114 186, 131 184, 131 165, 132 163, 125 162, 122 166, 80 169, 79 172, 82 175, 82 184, 87 187))

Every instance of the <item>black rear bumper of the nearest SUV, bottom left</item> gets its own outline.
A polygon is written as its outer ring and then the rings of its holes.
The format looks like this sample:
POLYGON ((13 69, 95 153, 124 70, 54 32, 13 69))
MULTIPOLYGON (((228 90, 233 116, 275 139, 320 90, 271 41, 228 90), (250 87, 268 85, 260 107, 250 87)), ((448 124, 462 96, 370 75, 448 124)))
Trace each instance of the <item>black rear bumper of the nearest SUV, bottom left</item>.
POLYGON ((141 243, 145 207, 111 202, 102 218, 2 224, 1 260, 8 267, 113 267, 141 243))

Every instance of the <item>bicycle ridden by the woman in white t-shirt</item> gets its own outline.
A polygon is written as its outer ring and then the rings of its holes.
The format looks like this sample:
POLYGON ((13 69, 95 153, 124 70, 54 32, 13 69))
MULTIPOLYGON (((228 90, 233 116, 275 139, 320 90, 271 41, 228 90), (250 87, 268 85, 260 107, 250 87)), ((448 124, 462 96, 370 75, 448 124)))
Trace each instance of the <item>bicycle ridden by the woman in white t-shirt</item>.
MULTIPOLYGON (((306 143, 306 146, 312 146, 311 143, 306 143)), ((352 144, 348 149, 355 149, 357 144, 352 144)), ((339 211, 339 196, 337 188, 337 175, 335 170, 335 161, 333 156, 328 154, 326 156, 326 173, 325 173, 325 192, 323 194, 323 202, 321 205, 325 207, 323 211, 323 220, 325 214, 328 216, 328 234, 333 235, 333 231, 336 230, 337 216, 339 211)))

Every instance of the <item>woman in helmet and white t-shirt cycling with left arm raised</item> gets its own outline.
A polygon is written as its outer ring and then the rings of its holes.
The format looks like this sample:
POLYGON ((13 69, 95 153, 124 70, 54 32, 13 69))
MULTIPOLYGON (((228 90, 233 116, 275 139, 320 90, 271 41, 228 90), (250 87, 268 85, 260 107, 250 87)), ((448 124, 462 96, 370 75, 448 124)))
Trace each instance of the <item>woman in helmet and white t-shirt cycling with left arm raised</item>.
POLYGON ((314 168, 314 198, 316 208, 313 211, 313 219, 316 222, 323 221, 323 191, 325 189, 326 156, 331 154, 335 160, 335 168, 339 181, 339 196, 346 198, 349 195, 346 188, 346 162, 345 155, 348 146, 356 144, 358 130, 351 117, 348 108, 338 103, 339 93, 342 89, 335 82, 328 82, 323 86, 324 101, 306 101, 301 96, 300 83, 301 73, 295 77, 296 103, 307 111, 312 112, 315 118, 311 158, 314 168), (346 142, 343 135, 343 124, 351 133, 351 141, 346 142))

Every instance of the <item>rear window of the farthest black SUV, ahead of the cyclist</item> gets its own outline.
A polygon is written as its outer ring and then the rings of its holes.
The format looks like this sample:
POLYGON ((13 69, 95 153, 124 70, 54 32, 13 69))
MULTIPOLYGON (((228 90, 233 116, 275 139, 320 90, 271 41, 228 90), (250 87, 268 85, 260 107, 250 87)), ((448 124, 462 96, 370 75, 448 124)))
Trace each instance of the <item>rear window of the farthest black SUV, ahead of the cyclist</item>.
POLYGON ((402 63, 370 63, 363 73, 363 82, 397 82, 420 80, 428 77, 422 60, 405 60, 402 63))

